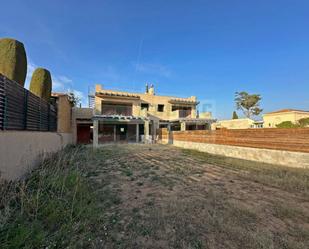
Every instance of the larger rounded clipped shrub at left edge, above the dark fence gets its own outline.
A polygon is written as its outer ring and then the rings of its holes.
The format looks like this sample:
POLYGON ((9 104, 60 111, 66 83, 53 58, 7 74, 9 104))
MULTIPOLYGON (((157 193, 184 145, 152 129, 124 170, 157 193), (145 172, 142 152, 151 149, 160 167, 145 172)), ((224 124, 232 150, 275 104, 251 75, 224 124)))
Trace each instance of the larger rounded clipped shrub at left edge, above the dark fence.
POLYGON ((0 39, 0 73, 24 86, 27 75, 24 44, 10 38, 0 39))

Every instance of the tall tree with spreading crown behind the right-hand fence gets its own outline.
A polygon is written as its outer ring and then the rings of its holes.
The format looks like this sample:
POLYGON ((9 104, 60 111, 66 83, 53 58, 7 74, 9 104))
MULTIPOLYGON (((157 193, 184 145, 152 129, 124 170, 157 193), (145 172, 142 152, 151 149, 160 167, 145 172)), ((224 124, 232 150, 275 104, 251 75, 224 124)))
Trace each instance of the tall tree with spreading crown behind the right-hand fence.
POLYGON ((235 103, 237 110, 241 110, 247 118, 259 115, 263 109, 260 108, 260 94, 249 94, 247 92, 236 92, 235 103))

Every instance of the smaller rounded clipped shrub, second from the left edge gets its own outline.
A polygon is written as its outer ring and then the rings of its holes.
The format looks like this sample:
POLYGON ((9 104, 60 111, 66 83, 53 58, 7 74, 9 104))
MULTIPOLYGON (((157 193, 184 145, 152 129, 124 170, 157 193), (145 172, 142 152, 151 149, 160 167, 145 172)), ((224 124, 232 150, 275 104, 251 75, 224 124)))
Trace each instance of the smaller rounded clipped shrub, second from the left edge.
POLYGON ((33 72, 30 82, 30 92, 49 101, 52 89, 50 72, 44 68, 37 68, 33 72))

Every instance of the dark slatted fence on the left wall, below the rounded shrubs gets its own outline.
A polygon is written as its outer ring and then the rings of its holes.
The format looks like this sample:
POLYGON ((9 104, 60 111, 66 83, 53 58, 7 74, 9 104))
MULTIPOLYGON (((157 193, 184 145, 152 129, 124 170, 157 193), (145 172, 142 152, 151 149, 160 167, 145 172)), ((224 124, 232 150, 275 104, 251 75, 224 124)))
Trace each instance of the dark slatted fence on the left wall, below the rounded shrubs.
POLYGON ((57 110, 0 74, 0 130, 56 131, 57 110))

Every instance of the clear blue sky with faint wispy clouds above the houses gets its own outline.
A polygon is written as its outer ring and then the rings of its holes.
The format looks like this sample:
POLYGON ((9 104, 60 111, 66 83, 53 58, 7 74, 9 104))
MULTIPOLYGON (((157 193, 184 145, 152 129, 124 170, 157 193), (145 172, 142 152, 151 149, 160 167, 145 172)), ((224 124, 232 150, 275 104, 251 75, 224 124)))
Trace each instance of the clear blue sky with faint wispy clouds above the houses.
MULTIPOLYGON (((229 119, 237 91, 265 112, 309 110, 308 0, 0 0, 0 37, 24 43, 53 91, 197 96, 229 119)), ((241 116, 241 112, 239 112, 241 116)))

